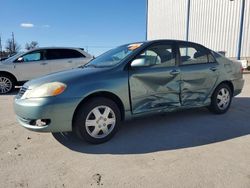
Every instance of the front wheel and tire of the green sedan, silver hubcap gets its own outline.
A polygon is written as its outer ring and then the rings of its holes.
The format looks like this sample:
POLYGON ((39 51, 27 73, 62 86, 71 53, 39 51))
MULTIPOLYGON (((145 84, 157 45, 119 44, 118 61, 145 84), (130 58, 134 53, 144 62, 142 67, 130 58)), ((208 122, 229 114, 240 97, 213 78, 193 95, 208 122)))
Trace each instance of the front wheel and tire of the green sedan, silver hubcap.
POLYGON ((110 140, 119 128, 121 113, 116 103, 104 97, 92 98, 77 110, 73 131, 92 144, 110 140))

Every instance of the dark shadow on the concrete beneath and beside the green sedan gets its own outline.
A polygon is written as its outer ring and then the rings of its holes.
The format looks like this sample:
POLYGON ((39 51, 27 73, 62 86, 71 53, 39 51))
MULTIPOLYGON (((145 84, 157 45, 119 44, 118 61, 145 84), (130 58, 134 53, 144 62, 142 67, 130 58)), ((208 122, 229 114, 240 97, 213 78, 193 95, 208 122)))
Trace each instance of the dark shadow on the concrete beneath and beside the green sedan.
POLYGON ((206 108, 136 119, 122 124, 110 141, 91 145, 72 133, 53 136, 71 150, 91 154, 142 154, 221 142, 250 134, 250 98, 235 98, 223 115, 206 108))

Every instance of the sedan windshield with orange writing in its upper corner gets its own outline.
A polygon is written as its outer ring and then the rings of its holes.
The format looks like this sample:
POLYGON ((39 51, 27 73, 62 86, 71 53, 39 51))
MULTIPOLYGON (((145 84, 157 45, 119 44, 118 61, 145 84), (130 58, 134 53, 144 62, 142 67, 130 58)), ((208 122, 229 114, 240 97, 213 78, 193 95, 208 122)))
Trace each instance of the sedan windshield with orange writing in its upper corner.
POLYGON ((106 53, 98 56, 96 59, 93 59, 91 62, 86 64, 85 67, 110 67, 117 65, 142 44, 143 43, 128 44, 109 50, 106 53))

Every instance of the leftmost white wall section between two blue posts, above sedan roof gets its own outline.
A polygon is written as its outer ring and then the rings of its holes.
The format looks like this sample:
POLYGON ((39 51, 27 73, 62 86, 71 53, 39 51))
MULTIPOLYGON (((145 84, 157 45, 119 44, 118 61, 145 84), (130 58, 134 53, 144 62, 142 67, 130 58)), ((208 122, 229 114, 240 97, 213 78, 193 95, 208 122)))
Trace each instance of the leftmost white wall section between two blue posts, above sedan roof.
POLYGON ((166 38, 184 40, 186 7, 186 0, 149 0, 148 40, 166 38))

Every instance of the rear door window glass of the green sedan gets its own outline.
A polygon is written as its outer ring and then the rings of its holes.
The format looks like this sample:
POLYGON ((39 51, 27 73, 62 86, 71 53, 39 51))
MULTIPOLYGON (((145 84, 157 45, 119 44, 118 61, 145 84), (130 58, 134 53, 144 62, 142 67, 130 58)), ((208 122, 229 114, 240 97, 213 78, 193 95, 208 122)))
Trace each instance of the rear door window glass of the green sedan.
POLYGON ((213 56, 198 45, 180 45, 181 65, 202 64, 214 62, 213 56))

